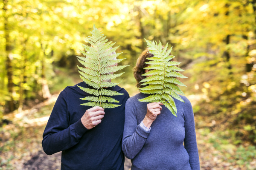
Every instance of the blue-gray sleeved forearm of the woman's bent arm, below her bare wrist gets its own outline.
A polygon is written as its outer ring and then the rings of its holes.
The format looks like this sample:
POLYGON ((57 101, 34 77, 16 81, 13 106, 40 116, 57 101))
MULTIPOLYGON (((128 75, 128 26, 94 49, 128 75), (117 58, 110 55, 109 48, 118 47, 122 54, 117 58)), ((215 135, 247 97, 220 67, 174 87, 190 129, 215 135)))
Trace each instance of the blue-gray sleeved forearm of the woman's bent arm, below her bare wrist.
POLYGON ((149 131, 143 130, 143 128, 138 125, 136 131, 131 136, 124 137, 122 150, 128 159, 134 159, 134 157, 140 152, 148 138, 148 135, 149 131))

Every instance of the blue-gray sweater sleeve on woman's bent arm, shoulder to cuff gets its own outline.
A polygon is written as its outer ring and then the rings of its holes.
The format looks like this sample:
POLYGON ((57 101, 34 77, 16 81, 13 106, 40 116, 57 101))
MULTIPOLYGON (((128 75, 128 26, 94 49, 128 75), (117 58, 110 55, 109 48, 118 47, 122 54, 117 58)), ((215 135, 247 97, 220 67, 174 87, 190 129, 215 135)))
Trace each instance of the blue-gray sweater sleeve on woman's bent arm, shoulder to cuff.
POLYGON ((140 152, 150 133, 140 124, 137 125, 136 114, 136 105, 130 98, 125 104, 125 127, 122 139, 122 150, 128 159, 134 159, 140 152))

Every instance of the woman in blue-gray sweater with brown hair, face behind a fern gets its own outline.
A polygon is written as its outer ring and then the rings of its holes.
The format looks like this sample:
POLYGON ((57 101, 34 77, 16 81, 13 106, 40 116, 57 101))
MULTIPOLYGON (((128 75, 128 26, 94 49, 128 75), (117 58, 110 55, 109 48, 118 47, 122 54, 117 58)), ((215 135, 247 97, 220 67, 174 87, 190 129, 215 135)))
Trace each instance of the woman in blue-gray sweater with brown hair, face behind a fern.
MULTIPOLYGON (((142 52, 134 67, 137 87, 142 87, 141 76, 148 57, 148 49, 142 52)), ((191 103, 175 99, 177 117, 160 102, 138 102, 148 94, 139 93, 125 104, 125 127, 122 150, 131 159, 131 170, 200 170, 195 136, 195 121, 191 103), (183 146, 184 142, 184 146, 183 146)))

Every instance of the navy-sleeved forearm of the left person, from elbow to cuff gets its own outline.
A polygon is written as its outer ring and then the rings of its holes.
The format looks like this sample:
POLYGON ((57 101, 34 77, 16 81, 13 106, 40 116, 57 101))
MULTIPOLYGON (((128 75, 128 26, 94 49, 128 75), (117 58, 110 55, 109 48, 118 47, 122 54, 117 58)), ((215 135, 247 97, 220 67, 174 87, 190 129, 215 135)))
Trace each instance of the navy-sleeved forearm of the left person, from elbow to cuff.
POLYGON ((46 134, 42 141, 44 152, 47 155, 52 155, 62 150, 69 149, 79 142, 81 136, 86 131, 87 129, 83 126, 81 120, 79 120, 73 125, 70 125, 67 129, 46 134))

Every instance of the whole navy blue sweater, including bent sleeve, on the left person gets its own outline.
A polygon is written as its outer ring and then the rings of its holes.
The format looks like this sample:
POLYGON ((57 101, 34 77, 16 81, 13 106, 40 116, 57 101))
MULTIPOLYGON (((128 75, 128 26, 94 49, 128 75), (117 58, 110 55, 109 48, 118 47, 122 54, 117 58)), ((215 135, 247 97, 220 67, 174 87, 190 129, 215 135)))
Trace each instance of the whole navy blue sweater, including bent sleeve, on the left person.
MULTIPOLYGON (((77 84, 91 88, 84 82, 77 84)), ((107 88, 123 93, 112 96, 121 106, 105 109, 102 122, 87 130, 81 117, 90 106, 79 98, 91 96, 77 87, 61 91, 43 134, 43 149, 48 155, 62 151, 61 170, 124 170, 122 135, 127 91, 119 86, 107 88)))

